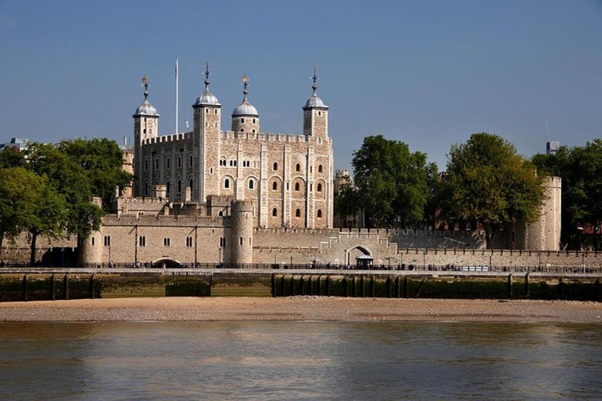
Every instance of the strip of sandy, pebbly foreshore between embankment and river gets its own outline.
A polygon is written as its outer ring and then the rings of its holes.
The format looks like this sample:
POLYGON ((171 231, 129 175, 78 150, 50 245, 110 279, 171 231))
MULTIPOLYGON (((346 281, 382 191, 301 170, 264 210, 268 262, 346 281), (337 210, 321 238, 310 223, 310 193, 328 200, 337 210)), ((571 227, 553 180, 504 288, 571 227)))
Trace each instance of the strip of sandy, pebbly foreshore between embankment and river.
POLYGON ((0 321, 335 320, 602 323, 575 301, 290 298, 114 298, 0 303, 0 321))

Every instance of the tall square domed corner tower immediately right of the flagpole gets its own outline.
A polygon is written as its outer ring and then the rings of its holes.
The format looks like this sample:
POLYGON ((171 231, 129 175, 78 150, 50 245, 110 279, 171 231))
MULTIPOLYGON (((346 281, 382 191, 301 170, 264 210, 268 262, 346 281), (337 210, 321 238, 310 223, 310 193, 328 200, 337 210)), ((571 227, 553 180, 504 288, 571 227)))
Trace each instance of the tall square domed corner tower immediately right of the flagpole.
POLYGON ((209 63, 205 64, 205 91, 192 105, 194 109, 194 188, 191 197, 204 202, 207 195, 219 194, 219 164, 222 105, 209 92, 209 63))

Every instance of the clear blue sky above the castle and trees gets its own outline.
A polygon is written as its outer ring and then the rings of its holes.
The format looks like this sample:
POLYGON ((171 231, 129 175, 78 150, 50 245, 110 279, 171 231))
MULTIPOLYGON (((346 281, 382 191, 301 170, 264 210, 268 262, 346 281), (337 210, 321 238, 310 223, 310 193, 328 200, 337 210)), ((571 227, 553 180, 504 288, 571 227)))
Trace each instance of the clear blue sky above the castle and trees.
MULTIPOLYGON (((224 116, 240 77, 263 132, 300 133, 318 67, 335 168, 366 135, 407 142, 444 167, 471 133, 520 153, 602 136, 602 1, 3 1, 0 141, 132 133, 140 78, 175 130, 202 91, 205 61, 224 116)), ((229 129, 229 117, 222 128, 229 129)))

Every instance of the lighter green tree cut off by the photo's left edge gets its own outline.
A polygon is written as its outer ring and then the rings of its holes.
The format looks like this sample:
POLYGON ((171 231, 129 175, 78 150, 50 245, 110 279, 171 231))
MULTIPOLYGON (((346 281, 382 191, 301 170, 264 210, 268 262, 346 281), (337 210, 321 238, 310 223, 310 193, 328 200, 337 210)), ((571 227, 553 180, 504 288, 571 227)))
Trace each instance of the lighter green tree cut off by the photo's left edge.
MULTIPOLYGON (((14 241, 35 217, 43 185, 42 178, 22 167, 0 169, 0 245, 5 238, 14 241)), ((0 246, 0 259, 1 253, 0 246)))

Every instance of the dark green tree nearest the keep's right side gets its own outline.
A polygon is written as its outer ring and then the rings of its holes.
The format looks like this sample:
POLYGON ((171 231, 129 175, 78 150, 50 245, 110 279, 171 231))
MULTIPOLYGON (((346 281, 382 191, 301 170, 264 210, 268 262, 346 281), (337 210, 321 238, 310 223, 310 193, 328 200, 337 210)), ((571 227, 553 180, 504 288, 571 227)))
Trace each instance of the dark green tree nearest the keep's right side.
POLYGON ((428 198, 426 155, 404 142, 367 136, 353 153, 357 205, 368 228, 423 220, 428 198))

